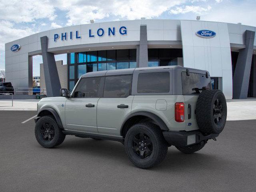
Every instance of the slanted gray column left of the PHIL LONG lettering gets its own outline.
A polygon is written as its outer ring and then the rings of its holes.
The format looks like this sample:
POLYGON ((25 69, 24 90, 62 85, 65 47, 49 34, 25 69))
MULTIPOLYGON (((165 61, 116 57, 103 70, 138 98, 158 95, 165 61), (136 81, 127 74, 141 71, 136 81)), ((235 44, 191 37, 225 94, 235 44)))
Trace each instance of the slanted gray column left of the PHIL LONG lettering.
POLYGON ((48 97, 60 96, 60 79, 54 54, 47 52, 47 36, 41 37, 41 48, 44 66, 44 78, 48 97))

